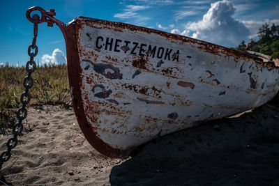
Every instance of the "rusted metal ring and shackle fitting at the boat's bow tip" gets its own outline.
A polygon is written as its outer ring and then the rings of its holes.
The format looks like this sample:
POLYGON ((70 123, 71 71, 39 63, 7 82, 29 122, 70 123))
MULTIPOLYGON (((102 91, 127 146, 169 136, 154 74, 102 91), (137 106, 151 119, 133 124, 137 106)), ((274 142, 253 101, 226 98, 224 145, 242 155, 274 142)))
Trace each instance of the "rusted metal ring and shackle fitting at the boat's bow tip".
POLYGON ((38 24, 40 24, 42 22, 46 22, 47 26, 52 27, 53 24, 55 23, 55 24, 57 24, 57 26, 59 26, 60 29, 65 26, 65 24, 63 22, 61 22, 60 20, 58 20, 55 17, 53 17, 54 15, 56 15, 54 9, 50 9, 50 11, 46 11, 43 8, 40 8, 38 6, 33 6, 33 7, 29 8, 27 10, 26 16, 27 16, 27 19, 30 22, 32 22, 32 23, 34 22, 33 17, 31 17, 31 13, 33 11, 36 11, 36 10, 38 10, 41 13, 41 15, 42 15, 40 17, 40 20, 38 21, 38 24))

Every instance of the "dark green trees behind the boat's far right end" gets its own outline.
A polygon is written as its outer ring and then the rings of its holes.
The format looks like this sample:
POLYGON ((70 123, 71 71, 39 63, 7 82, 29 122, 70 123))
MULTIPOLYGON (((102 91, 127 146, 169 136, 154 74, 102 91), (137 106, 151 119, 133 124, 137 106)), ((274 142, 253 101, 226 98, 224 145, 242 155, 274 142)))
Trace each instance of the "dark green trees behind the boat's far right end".
MULTIPOLYGON (((263 24, 257 33, 258 41, 250 41, 250 49, 255 52, 272 56, 273 59, 279 58, 279 25, 263 24)), ((244 40, 236 47, 238 50, 246 49, 244 40)))

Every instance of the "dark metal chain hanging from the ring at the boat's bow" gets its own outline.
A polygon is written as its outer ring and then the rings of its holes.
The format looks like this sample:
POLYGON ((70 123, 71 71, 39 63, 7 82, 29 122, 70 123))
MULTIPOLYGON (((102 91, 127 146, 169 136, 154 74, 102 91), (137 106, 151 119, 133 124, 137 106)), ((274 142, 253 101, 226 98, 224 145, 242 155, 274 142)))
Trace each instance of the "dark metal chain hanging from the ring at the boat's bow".
POLYGON ((32 73, 36 69, 36 63, 34 62, 34 57, 38 54, 38 46, 36 45, 36 40, 38 36, 38 22, 40 20, 40 16, 37 14, 34 14, 32 16, 33 21, 33 40, 32 44, 28 47, 28 55, 30 56, 30 60, 26 64, 26 70, 28 72, 28 75, 24 77, 23 86, 25 88, 25 91, 20 96, 20 102, 22 103, 22 107, 17 110, 17 123, 13 125, 13 137, 8 139, 7 142, 7 150, 1 153, 0 155, 0 170, 2 168, 2 164, 4 162, 7 162, 11 157, 11 150, 17 146, 17 136, 22 133, 23 125, 22 121, 27 118, 27 108, 26 105, 31 100, 31 95, 29 93, 29 89, 33 86, 33 78, 31 77, 32 73), (31 52, 31 49, 34 49, 33 52, 31 52))

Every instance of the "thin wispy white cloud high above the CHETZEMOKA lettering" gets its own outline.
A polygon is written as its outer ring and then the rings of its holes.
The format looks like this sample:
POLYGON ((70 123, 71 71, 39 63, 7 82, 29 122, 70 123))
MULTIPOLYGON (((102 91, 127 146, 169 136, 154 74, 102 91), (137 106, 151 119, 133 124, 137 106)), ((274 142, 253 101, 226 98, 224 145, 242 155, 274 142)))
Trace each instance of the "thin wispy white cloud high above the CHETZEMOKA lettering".
POLYGON ((128 5, 123 10, 123 13, 116 13, 114 14, 114 17, 117 17, 121 20, 133 19, 134 24, 143 24, 145 20, 149 20, 149 17, 139 15, 137 11, 145 10, 148 8, 150 8, 150 6, 128 5))

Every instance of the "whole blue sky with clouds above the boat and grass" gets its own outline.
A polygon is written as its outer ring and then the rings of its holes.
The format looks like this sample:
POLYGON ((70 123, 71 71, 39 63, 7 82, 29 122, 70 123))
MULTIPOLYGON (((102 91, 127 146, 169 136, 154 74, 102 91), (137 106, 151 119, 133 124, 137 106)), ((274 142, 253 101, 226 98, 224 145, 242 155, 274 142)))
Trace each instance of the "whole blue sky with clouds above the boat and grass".
MULTIPOLYGON (((85 16, 146 26, 200 40, 236 47, 241 40, 255 38, 259 26, 279 24, 279 1, 223 0, 84 0, 12 1, 2 0, 0 9, 0 64, 23 65, 29 60, 27 48, 33 25, 25 13, 31 6, 56 10, 56 18, 68 23, 85 16)), ((66 46, 58 27, 39 25, 36 61, 63 63, 66 46)))

